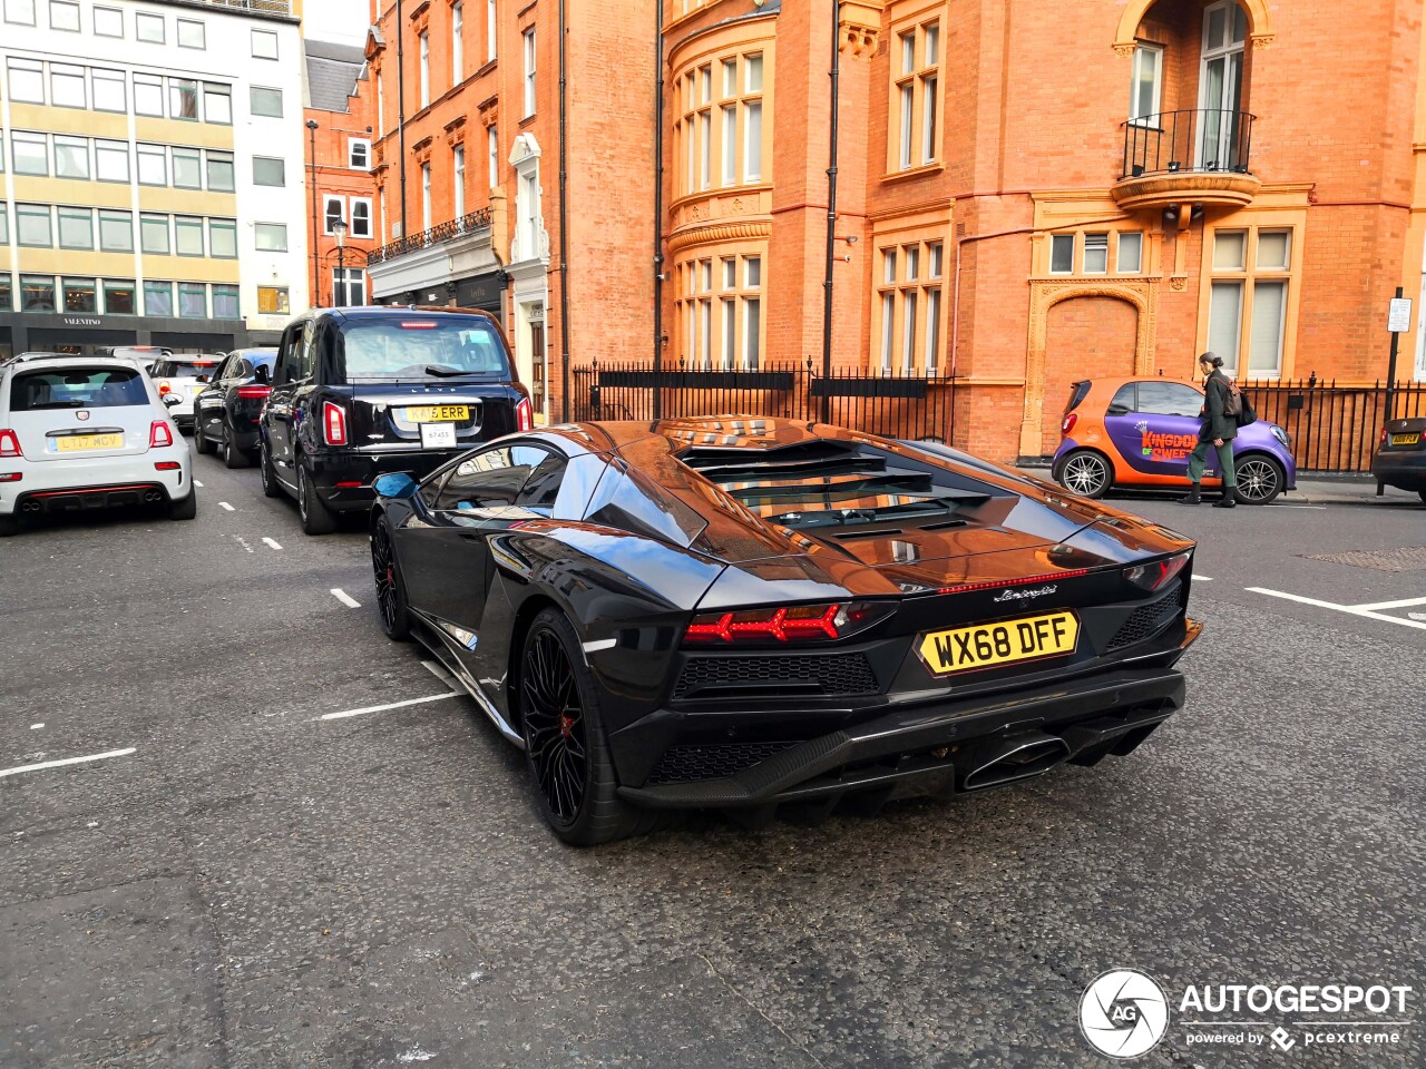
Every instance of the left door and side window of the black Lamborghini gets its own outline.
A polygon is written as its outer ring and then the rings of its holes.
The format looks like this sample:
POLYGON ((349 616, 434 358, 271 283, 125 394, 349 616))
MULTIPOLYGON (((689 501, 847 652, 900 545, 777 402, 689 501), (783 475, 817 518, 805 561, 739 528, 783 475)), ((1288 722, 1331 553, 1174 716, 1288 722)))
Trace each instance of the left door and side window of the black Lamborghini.
POLYGON ((398 554, 411 607, 446 624, 469 651, 485 616, 492 563, 488 539, 523 520, 549 515, 519 503, 525 483, 548 480, 555 456, 545 446, 511 442, 468 455, 422 492, 425 522, 398 533, 398 554))

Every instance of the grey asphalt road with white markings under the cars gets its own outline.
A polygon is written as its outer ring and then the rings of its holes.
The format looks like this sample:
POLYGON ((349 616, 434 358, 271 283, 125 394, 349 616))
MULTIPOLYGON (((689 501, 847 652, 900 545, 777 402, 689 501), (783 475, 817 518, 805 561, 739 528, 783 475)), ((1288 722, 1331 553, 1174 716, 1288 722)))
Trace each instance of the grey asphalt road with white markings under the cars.
POLYGON ((7 1069, 1107 1066, 1078 1003, 1118 966, 1171 999, 1416 985, 1395 1046, 1276 1012, 1249 1016, 1289 1052, 1204 1046, 1174 1005, 1135 1065, 1426 1063, 1426 559, 1305 556, 1426 546, 1423 506, 1117 502, 1211 577, 1191 704, 1129 758, 570 851, 522 757, 381 636, 362 533, 304 537, 195 460, 193 523, 0 543, 7 1069))

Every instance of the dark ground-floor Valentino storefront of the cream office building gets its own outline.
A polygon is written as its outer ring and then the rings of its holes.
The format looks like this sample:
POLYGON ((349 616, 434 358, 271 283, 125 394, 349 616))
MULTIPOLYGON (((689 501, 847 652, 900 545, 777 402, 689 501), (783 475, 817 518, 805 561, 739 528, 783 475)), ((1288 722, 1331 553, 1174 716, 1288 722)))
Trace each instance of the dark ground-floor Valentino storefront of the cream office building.
POLYGON ((20 352, 98 356, 118 345, 155 345, 174 352, 230 352, 265 344, 241 319, 144 315, 0 312, 0 359, 20 352))

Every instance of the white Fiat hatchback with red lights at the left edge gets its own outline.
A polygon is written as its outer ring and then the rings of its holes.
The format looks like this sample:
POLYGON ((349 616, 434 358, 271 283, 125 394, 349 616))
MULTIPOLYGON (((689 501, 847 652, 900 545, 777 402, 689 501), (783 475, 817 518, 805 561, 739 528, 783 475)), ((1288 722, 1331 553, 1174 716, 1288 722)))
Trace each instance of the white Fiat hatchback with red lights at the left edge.
POLYGON ((188 443, 153 379, 113 356, 21 356, 0 368, 0 536, 23 516, 117 505, 198 512, 188 443))

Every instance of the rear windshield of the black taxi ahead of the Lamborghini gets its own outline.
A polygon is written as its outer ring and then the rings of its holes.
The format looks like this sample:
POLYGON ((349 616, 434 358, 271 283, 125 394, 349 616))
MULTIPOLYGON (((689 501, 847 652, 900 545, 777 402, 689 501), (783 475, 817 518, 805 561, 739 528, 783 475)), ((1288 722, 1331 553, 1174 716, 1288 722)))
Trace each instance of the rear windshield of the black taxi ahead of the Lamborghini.
POLYGON ((512 378, 499 331, 479 315, 348 319, 337 338, 337 372, 347 382, 512 378))

